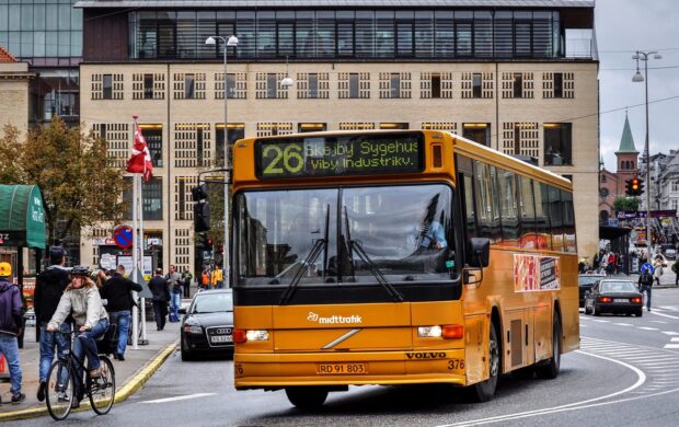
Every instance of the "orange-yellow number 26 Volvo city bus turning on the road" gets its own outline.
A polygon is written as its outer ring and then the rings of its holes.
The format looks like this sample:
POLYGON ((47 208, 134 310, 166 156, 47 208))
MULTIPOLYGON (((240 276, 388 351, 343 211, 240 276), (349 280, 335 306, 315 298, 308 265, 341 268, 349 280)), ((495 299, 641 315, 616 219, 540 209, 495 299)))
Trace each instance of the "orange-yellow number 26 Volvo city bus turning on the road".
POLYGON ((578 348, 571 182, 445 131, 233 148, 234 378, 301 408, 348 385, 492 399, 578 348))

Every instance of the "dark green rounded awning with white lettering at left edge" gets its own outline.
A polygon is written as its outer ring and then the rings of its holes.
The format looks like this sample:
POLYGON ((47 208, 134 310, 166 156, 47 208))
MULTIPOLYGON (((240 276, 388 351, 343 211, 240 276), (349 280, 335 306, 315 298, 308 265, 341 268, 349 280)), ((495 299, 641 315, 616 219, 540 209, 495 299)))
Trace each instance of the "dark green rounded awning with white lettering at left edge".
POLYGON ((37 185, 0 185, 0 246, 45 249, 45 210, 37 185))

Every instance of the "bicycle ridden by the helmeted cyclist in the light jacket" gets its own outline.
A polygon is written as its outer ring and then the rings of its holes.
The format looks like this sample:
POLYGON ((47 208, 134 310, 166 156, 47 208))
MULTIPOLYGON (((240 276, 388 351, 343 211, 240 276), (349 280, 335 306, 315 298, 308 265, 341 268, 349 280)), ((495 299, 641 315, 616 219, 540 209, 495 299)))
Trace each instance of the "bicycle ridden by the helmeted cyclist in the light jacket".
MULTIPOLYGON (((76 332, 59 332, 57 334, 74 335, 76 332)), ((102 376, 90 378, 90 372, 85 369, 84 360, 81 362, 73 353, 73 343, 69 336, 68 355, 65 359, 55 360, 49 367, 46 384, 46 402, 49 415, 56 420, 62 420, 70 414, 76 396, 74 379, 78 369, 84 370, 84 393, 90 399, 92 409, 99 415, 105 415, 113 407, 115 401, 115 370, 111 359, 106 356, 107 350, 100 349, 100 343, 106 343, 107 334, 104 334, 97 342, 97 353, 101 360, 102 376)), ((65 351, 66 354, 66 351, 65 351)))

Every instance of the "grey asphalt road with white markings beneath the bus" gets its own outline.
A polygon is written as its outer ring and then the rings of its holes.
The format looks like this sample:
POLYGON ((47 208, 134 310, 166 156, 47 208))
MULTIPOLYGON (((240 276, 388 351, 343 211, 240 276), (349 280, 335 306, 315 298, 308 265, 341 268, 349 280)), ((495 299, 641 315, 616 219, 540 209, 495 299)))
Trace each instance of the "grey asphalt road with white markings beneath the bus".
POLYGON ((642 318, 582 314, 582 349, 564 355, 557 379, 505 378, 490 403, 468 403, 446 386, 362 386, 331 393, 322 411, 304 414, 281 391, 237 392, 230 360, 182 362, 175 354, 111 414, 71 414, 65 424, 674 426, 679 419, 679 289, 655 290, 654 305, 642 318))

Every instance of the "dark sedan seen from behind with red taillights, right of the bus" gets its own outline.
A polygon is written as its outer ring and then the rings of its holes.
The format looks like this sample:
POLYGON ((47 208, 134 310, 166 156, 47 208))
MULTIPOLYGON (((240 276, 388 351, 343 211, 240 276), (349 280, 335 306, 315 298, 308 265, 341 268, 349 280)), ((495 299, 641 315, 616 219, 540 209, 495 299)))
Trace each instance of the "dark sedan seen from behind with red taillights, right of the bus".
POLYGON ((641 318, 643 300, 642 293, 632 281, 605 279, 597 282, 587 292, 585 314, 624 313, 641 318))

